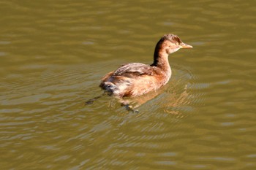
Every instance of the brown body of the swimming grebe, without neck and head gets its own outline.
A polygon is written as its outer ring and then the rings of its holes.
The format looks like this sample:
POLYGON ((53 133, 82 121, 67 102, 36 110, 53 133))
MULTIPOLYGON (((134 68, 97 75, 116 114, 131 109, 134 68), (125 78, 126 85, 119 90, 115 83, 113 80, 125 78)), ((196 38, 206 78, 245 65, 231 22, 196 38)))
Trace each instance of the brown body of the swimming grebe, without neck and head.
POLYGON ((163 77, 161 70, 155 66, 127 63, 106 74, 99 87, 119 97, 140 96, 165 85, 169 78, 163 77))

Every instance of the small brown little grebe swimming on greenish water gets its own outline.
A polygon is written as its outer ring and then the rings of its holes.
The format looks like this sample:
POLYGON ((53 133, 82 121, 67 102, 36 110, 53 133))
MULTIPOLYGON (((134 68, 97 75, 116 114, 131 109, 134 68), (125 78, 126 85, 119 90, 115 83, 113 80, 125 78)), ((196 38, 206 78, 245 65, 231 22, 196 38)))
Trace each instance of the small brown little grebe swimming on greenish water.
POLYGON ((99 87, 120 98, 140 96, 165 85, 171 76, 168 55, 180 48, 192 48, 173 34, 167 34, 157 42, 154 63, 127 63, 102 78, 99 87))

